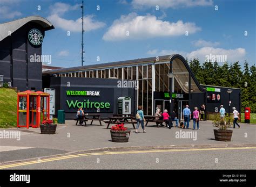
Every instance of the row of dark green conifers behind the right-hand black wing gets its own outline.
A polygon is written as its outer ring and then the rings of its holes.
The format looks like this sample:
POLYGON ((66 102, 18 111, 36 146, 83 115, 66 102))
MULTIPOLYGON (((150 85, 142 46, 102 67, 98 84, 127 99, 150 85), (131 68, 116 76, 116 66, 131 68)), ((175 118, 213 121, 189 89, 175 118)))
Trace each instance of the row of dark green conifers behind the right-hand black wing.
POLYGON ((241 88, 242 112, 244 107, 251 107, 251 112, 256 112, 256 67, 249 68, 248 62, 244 62, 244 70, 241 71, 239 62, 222 66, 218 62, 206 61, 202 65, 198 59, 190 61, 190 67, 200 84, 216 85, 220 87, 241 88))

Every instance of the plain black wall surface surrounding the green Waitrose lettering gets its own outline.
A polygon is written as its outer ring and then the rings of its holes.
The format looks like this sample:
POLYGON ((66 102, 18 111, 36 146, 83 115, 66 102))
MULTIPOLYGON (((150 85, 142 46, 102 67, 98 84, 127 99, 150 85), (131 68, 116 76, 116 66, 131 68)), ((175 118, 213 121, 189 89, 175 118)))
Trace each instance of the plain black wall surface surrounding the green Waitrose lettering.
MULTIPOLYGON (((134 114, 134 106, 136 106, 136 90, 134 88, 118 88, 118 79, 110 78, 81 78, 81 77, 49 77, 43 76, 43 87, 55 89, 55 113, 57 116, 58 110, 66 108, 66 89, 69 90, 102 90, 100 100, 97 102, 105 102, 105 99, 112 99, 113 111, 111 112, 99 112, 101 117, 112 116, 113 113, 117 113, 117 98, 127 96, 131 98, 131 113, 134 114), (49 81, 50 80, 50 81, 49 81), (68 87, 70 85, 70 87, 68 87)), ((87 96, 86 96, 87 97, 87 96)), ((88 97, 87 97, 88 98, 88 97)), ((93 98, 92 98, 93 99, 93 98)), ((77 109, 76 109, 77 110, 77 109)), ((84 110, 85 113, 97 113, 84 110)), ((65 110, 66 119, 73 119, 76 116, 76 112, 65 110)))

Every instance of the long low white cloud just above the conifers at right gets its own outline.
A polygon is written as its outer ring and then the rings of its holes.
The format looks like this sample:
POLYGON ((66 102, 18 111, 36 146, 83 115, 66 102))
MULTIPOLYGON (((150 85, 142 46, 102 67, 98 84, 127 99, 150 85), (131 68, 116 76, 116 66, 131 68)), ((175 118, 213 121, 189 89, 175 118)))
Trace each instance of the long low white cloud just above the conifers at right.
MULTIPOLYGON (((173 50, 161 50, 158 51, 157 49, 153 49, 151 51, 148 51, 147 54, 150 55, 170 55, 170 54, 180 54, 185 59, 187 57, 188 60, 193 58, 198 58, 201 63, 205 62, 206 56, 225 56, 227 62, 235 62, 235 61, 244 61, 244 57, 246 54, 246 51, 244 48, 236 48, 236 49, 223 49, 223 48, 213 48, 213 47, 202 47, 197 49, 196 51, 192 51, 190 53, 184 52, 184 51, 173 51, 173 50), (154 53, 154 54, 153 54, 154 53)), ((225 59, 224 57, 224 59, 225 59)), ((217 60, 218 61, 218 60, 217 60)))

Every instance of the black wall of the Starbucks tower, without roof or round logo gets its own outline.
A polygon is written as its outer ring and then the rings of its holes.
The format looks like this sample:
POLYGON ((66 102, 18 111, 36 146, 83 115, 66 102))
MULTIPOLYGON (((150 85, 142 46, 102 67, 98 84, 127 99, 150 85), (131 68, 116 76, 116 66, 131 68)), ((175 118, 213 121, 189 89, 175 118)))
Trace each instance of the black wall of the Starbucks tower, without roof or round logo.
POLYGON ((30 62, 30 55, 42 55, 42 45, 34 46, 28 40, 32 28, 44 36, 43 27, 30 22, 0 41, 0 75, 20 91, 42 90, 42 62, 30 62))

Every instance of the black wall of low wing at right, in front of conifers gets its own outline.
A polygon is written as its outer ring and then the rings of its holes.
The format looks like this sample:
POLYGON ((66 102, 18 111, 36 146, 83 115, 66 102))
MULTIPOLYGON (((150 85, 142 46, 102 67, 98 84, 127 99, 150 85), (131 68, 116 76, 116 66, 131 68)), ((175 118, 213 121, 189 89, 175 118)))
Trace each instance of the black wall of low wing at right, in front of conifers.
POLYGON ((206 85, 201 85, 203 88, 206 87, 211 87, 211 88, 219 88, 220 92, 209 92, 207 93, 216 93, 220 94, 220 100, 219 102, 216 100, 215 102, 209 102, 207 100, 205 93, 192 93, 191 95, 191 103, 190 103, 190 109, 191 111, 194 110, 194 107, 197 106, 198 109, 200 110, 200 106, 202 104, 206 104, 206 110, 209 112, 215 112, 215 107, 217 107, 218 112, 220 110, 220 105, 224 105, 224 108, 226 112, 228 112, 228 93, 227 90, 231 89, 233 90, 232 93, 230 94, 230 100, 231 100, 231 106, 230 106, 230 112, 232 112, 232 107, 235 107, 238 112, 241 112, 241 89, 235 89, 235 88, 224 88, 224 87, 215 87, 215 86, 206 86, 206 85))

